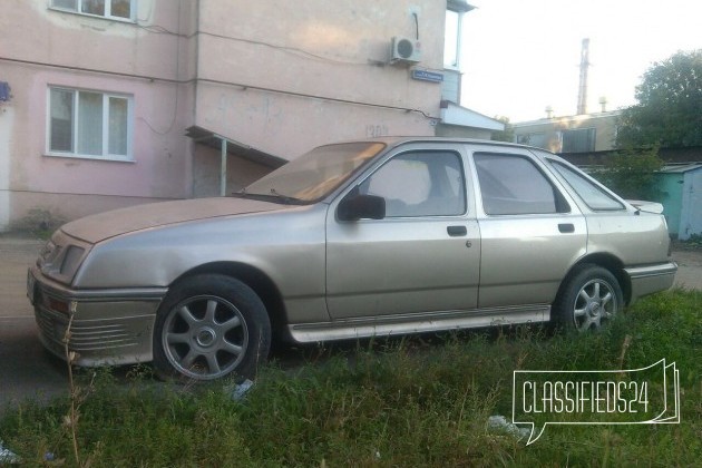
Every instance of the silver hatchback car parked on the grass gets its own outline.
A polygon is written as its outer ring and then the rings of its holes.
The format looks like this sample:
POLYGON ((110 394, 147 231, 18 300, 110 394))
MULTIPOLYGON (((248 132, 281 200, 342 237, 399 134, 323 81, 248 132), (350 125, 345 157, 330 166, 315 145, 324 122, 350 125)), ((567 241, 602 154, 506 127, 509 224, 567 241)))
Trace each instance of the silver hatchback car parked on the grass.
POLYGON ((30 267, 28 295, 57 355, 70 321, 80 365, 247 376, 272 340, 599 328, 673 284, 661 213, 537 148, 343 143, 232 197, 68 223, 30 267))

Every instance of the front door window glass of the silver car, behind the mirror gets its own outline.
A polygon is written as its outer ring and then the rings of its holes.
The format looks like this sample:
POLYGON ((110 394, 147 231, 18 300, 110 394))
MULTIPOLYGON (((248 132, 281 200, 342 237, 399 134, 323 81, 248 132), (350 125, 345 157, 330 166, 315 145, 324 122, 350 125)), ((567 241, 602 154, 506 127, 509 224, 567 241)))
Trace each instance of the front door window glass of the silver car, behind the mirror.
POLYGON ((408 153, 363 181, 360 193, 386 198, 386 217, 451 216, 466 212, 466 184, 455 153, 408 153))

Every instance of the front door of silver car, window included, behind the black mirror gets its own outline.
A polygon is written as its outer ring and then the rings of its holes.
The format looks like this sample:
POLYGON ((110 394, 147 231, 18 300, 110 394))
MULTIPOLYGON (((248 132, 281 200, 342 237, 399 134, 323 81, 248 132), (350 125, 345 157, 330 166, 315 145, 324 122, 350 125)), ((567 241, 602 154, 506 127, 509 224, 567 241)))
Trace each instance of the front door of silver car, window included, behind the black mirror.
POLYGON ((326 303, 333 320, 477 306, 480 236, 460 145, 396 153, 350 193, 382 196, 386 217, 339 221, 339 201, 330 207, 326 303))

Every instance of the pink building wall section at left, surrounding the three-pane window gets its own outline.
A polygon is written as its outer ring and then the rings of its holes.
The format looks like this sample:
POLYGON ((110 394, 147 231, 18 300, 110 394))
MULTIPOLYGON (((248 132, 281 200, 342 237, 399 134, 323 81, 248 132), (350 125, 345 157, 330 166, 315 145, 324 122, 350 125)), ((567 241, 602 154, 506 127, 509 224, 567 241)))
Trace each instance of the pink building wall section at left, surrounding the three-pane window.
POLYGON ((10 101, 0 105, 0 128, 9 135, 7 145, 0 144, 0 167, 7 169, 0 177, 6 185, 0 186, 0 228, 36 209, 70 220, 191 196, 189 142, 183 128, 193 115, 194 85, 186 82, 194 70, 192 48, 187 39, 147 28, 192 31, 192 2, 140 0, 139 26, 50 4, 10 2, 0 17, 0 80, 12 89, 10 101), (189 11, 179 3, 191 4, 189 11), (50 86, 133 97, 131 160, 50 155, 50 86))

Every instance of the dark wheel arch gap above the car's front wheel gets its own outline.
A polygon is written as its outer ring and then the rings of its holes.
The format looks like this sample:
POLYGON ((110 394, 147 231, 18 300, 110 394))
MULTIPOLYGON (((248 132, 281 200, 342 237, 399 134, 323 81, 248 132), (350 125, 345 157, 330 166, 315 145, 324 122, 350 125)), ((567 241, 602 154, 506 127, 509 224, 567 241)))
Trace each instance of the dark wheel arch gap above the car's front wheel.
POLYGON ((275 283, 261 270, 240 262, 212 262, 196 266, 178 276, 173 283, 201 274, 221 274, 234 277, 251 287, 265 305, 274 340, 287 340, 287 314, 283 295, 275 283))

